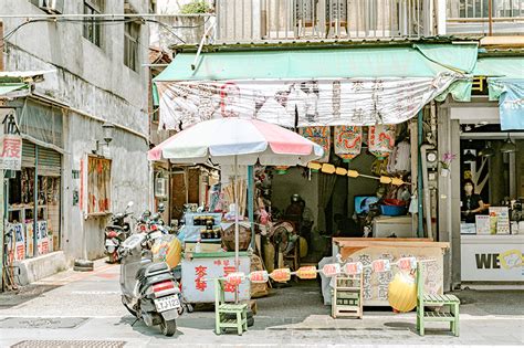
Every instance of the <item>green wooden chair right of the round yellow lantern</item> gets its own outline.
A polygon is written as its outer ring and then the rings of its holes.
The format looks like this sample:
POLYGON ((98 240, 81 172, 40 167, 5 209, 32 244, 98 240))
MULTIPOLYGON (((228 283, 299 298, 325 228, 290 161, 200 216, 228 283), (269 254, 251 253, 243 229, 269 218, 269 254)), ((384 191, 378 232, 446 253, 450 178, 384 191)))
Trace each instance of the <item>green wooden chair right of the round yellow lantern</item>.
MULTIPOLYGON (((459 306, 460 299, 454 295, 430 295, 423 291, 422 266, 417 266, 417 330, 420 336, 425 335, 426 321, 449 321, 450 330, 459 336, 459 306), (428 307, 449 306, 449 312, 430 312, 428 307)), ((447 310, 447 308, 444 308, 447 310)))

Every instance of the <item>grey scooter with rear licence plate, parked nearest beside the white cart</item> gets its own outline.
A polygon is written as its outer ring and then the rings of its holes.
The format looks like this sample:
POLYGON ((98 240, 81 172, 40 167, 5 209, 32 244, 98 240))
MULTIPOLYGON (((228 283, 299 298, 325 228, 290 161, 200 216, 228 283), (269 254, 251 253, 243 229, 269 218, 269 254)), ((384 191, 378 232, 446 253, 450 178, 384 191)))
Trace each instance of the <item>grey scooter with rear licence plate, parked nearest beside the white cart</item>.
POLYGON ((157 232, 136 233, 122 243, 122 303, 147 326, 159 325, 164 335, 172 336, 177 330, 176 319, 184 309, 171 270, 165 262, 151 261, 148 247, 157 232))

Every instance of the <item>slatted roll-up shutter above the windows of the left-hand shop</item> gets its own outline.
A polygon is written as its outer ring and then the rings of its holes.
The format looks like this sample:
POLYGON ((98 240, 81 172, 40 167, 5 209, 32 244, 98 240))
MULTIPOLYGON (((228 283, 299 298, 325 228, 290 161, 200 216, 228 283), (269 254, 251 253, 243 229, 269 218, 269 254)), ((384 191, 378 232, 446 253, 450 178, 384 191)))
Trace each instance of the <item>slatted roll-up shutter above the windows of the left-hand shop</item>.
MULTIPOLYGON (((36 145, 23 140, 22 144, 22 167, 34 168, 36 145)), ((62 158, 60 152, 39 146, 39 176, 60 177, 62 169, 62 158)))

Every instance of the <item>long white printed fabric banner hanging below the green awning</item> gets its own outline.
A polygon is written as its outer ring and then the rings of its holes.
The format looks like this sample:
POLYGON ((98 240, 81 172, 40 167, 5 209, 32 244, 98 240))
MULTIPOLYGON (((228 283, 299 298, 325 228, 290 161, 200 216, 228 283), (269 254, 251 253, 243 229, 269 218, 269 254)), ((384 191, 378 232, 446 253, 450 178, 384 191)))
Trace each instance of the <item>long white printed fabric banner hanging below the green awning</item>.
POLYGON ((399 124, 455 80, 437 77, 156 82, 160 128, 222 117, 256 118, 283 127, 399 124), (297 117, 297 124, 295 118, 297 117))

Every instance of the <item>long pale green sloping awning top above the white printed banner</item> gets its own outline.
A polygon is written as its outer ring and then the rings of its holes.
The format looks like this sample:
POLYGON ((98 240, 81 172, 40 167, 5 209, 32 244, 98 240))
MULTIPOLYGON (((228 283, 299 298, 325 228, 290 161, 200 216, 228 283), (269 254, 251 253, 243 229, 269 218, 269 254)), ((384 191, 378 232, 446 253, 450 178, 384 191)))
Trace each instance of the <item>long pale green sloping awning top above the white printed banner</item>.
POLYGON ((223 81, 251 78, 429 77, 464 71, 476 60, 476 44, 438 44, 286 51, 177 54, 154 81, 223 81), (429 57, 428 57, 429 56, 429 57), (450 59, 465 57, 459 66, 450 59))

